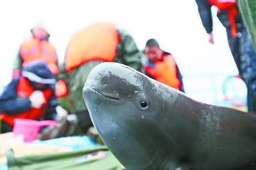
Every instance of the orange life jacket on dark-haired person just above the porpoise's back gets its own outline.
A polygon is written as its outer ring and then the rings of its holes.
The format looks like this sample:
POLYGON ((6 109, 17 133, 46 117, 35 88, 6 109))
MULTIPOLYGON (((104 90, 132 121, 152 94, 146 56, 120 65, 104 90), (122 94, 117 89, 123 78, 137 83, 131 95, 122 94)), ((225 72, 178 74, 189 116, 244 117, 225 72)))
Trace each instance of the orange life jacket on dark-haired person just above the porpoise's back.
POLYGON ((154 63, 154 68, 145 65, 144 70, 156 81, 180 90, 181 86, 179 77, 177 76, 177 66, 172 55, 164 55, 163 61, 156 61, 154 63))

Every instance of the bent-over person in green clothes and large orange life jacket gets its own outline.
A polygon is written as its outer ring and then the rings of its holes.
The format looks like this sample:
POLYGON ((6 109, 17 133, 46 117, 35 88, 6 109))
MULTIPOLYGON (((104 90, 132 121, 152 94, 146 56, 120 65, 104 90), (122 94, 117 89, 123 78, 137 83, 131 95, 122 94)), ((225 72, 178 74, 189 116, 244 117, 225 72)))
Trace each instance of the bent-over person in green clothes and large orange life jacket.
POLYGON ((92 126, 81 93, 90 70, 99 63, 115 61, 141 71, 141 52, 131 35, 110 22, 97 22, 72 35, 60 68, 59 79, 68 87, 60 105, 78 118, 77 133, 92 126))

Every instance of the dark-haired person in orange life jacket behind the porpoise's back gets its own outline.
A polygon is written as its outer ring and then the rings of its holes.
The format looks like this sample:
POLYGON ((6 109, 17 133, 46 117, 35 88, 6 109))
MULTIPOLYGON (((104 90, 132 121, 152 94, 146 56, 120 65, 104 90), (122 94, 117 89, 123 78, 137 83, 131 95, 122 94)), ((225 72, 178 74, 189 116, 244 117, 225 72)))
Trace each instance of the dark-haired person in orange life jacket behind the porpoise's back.
POLYGON ((160 49, 155 39, 147 41, 145 50, 147 62, 143 65, 146 75, 184 92, 182 75, 172 54, 160 49))

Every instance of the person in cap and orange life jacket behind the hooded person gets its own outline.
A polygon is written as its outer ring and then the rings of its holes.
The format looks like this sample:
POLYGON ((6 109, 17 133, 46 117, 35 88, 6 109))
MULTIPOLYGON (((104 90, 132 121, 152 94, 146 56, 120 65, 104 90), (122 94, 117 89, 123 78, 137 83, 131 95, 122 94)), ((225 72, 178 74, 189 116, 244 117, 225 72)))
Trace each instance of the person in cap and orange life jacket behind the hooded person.
POLYGON ((49 43, 49 33, 44 26, 35 26, 31 29, 32 38, 20 45, 19 53, 13 67, 13 77, 20 75, 20 69, 26 61, 43 59, 55 76, 59 72, 58 57, 55 48, 49 43))

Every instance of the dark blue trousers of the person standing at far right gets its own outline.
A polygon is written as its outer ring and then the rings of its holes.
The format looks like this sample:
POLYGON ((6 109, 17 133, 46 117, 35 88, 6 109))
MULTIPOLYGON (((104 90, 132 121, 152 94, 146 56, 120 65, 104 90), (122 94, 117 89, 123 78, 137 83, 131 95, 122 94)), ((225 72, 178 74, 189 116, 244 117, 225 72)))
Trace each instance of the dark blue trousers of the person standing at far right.
POLYGON ((235 38, 230 34, 227 11, 218 13, 218 18, 226 28, 228 45, 236 62, 239 75, 247 86, 248 111, 256 112, 256 52, 253 48, 252 39, 246 30, 241 13, 238 12, 236 16, 237 36, 235 38))

